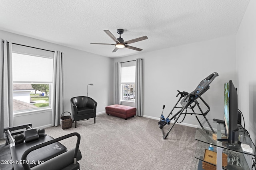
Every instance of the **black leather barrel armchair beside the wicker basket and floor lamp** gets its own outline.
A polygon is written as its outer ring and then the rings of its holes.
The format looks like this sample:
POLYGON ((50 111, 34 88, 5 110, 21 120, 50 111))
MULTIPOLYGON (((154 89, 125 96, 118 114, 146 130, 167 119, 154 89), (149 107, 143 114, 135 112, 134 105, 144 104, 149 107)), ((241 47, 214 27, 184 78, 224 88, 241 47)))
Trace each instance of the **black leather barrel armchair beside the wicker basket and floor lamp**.
POLYGON ((84 120, 94 117, 94 123, 96 118, 97 102, 90 97, 78 96, 70 99, 72 117, 75 121, 84 120))

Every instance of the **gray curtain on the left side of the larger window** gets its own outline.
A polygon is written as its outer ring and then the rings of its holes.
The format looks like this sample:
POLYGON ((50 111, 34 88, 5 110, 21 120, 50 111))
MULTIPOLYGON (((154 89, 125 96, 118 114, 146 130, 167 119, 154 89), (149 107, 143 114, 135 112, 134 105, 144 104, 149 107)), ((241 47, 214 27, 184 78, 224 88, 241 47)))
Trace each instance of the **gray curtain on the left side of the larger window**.
POLYGON ((0 139, 4 138, 4 127, 13 126, 12 88, 12 43, 1 40, 0 47, 0 139))

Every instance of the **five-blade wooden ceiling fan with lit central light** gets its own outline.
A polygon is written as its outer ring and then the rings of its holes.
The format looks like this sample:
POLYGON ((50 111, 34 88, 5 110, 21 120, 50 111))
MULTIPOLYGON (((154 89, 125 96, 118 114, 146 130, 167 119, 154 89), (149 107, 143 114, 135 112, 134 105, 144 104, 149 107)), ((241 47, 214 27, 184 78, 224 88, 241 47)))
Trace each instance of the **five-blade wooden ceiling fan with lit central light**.
POLYGON ((131 39, 128 41, 124 41, 124 39, 121 38, 121 34, 124 33, 124 29, 117 29, 116 31, 119 34, 119 38, 116 38, 110 31, 104 30, 104 32, 108 34, 108 36, 110 36, 110 38, 112 38, 116 42, 115 44, 106 44, 106 43, 90 43, 90 44, 115 45, 115 49, 112 51, 112 53, 116 52, 118 49, 121 49, 121 48, 128 48, 132 50, 142 51, 142 49, 139 49, 137 47, 132 47, 128 44, 148 39, 147 36, 143 36, 143 37, 131 39))

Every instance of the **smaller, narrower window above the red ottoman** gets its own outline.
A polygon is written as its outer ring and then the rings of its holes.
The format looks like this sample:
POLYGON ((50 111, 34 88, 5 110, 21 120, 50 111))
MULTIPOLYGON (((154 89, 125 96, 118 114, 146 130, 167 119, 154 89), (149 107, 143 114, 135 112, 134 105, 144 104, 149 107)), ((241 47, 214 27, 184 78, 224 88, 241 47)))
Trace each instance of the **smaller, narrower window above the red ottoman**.
POLYGON ((135 61, 121 63, 121 100, 135 102, 135 61))

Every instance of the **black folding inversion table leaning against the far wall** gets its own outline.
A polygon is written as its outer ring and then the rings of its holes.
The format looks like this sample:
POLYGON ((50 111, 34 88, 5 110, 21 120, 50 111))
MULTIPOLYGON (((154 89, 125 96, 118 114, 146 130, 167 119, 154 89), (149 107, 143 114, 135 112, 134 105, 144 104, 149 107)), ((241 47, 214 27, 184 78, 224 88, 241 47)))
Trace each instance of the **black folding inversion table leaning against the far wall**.
POLYGON ((204 117, 204 119, 206 120, 206 122, 208 123, 210 129, 212 130, 213 133, 214 130, 212 129, 212 126, 210 125, 210 123, 208 122, 208 119, 206 118, 206 114, 210 111, 210 107, 208 106, 208 104, 202 99, 202 94, 204 94, 204 92, 206 92, 210 86, 209 84, 214 80, 214 78, 216 76, 218 76, 219 74, 217 72, 214 72, 212 74, 210 74, 208 77, 206 77, 204 80, 202 80, 200 82, 200 84, 197 86, 197 88, 191 92, 190 94, 188 94, 188 92, 180 92, 178 90, 178 94, 176 97, 178 97, 180 95, 180 98, 178 100, 178 102, 175 104, 175 106, 172 108, 172 110, 170 111, 169 115, 164 118, 164 115, 163 115, 163 112, 164 112, 164 107, 165 105, 163 106, 163 110, 162 110, 162 114, 160 116, 160 121, 158 122, 158 126, 159 128, 162 130, 162 133, 163 133, 163 139, 166 139, 166 137, 169 135, 170 131, 172 130, 172 128, 174 127, 175 123, 181 123, 184 118, 186 117, 186 114, 194 114, 196 116, 196 119, 198 120, 200 126, 202 127, 202 129, 208 133, 209 131, 204 129, 202 123, 200 122, 200 120, 198 119, 197 115, 202 115, 204 117), (182 99, 183 98, 183 99, 182 99), (201 107, 199 106, 199 103, 197 101, 197 99, 200 99, 204 105, 207 107, 207 111, 202 111, 201 107), (180 102, 181 100, 181 102, 180 102), (176 107, 177 104, 180 102, 181 106, 182 107, 176 107), (192 104, 194 104, 192 106, 192 104), (195 113, 194 111, 194 107, 197 106, 200 110, 200 113, 195 113), (174 109, 176 108, 179 108, 180 110, 178 112, 176 112, 175 114, 172 113, 172 111, 174 111, 174 109), (191 109, 192 113, 188 113, 187 112, 187 109, 191 109), (185 113, 183 113, 183 111, 185 110, 185 113), (169 118, 169 116, 172 115, 171 118, 169 118), (180 115, 184 115, 184 118, 182 119, 181 122, 177 122, 180 115), (166 135, 164 134, 164 130, 163 130, 163 127, 167 124, 167 125, 170 125, 170 121, 174 119, 174 123, 172 124, 172 126, 170 127, 169 131, 166 133, 166 135))

